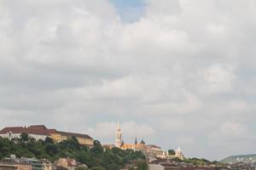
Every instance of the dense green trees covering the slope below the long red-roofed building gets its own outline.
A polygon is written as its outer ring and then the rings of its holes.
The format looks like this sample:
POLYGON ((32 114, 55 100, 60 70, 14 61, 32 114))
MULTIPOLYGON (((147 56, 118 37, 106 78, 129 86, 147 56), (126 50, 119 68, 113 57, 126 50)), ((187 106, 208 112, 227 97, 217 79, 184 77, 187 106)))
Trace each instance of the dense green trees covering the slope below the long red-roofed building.
POLYGON ((21 139, 15 141, 0 138, 0 158, 11 154, 17 157, 45 158, 49 161, 69 157, 86 164, 91 170, 117 170, 132 160, 145 159, 139 151, 120 150, 119 148, 104 150, 97 140, 89 149, 80 145, 75 137, 55 144, 50 138, 45 141, 35 141, 35 139, 28 138, 26 134, 22 134, 21 139))

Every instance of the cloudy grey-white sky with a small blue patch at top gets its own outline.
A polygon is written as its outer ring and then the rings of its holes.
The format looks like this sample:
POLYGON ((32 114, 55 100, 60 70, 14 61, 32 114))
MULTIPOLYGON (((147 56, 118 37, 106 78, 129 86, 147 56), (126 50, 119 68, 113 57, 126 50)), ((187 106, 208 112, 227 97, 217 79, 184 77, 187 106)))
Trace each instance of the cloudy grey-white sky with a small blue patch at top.
POLYGON ((254 0, 1 0, 0 127, 255 154, 254 0))

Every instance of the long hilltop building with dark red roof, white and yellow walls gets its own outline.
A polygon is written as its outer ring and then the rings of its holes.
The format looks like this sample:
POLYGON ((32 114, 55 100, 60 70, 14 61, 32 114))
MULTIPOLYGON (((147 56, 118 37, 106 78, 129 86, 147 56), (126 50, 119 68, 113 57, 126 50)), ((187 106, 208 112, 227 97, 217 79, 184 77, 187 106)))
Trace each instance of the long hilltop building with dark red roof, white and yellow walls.
POLYGON ((0 137, 7 139, 20 139, 21 133, 27 133, 30 138, 45 140, 47 137, 52 138, 55 143, 60 143, 64 140, 71 139, 73 136, 79 141, 79 144, 91 147, 93 139, 87 134, 81 133, 67 133, 57 131, 56 129, 49 129, 44 125, 32 125, 29 127, 4 127, 0 131, 0 137))

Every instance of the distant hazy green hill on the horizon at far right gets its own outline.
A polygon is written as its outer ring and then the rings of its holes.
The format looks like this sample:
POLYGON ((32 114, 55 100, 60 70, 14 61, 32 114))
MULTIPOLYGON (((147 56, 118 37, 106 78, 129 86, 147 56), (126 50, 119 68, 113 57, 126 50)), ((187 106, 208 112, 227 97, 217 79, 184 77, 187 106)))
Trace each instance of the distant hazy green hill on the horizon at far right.
POLYGON ((238 156, 229 156, 221 160, 223 163, 234 163, 234 162, 256 162, 256 154, 253 155, 238 155, 238 156))

